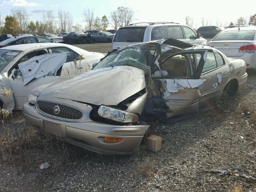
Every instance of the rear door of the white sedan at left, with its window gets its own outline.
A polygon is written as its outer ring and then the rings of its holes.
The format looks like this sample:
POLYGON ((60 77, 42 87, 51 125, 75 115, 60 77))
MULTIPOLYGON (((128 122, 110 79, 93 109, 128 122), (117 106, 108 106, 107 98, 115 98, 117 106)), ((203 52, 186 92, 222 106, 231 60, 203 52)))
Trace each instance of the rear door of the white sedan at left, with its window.
POLYGON ((49 48, 50 53, 66 53, 67 60, 62 66, 60 77, 72 76, 85 72, 88 69, 88 62, 86 59, 78 60, 79 54, 66 47, 49 48), (74 62, 76 60, 76 63, 74 62))

